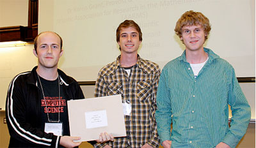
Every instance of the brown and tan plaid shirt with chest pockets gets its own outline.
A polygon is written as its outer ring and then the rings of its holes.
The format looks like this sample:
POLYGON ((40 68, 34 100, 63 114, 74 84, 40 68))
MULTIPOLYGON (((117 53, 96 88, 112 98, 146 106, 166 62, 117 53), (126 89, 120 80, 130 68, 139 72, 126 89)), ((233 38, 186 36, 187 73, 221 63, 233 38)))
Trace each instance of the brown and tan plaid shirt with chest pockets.
POLYGON ((95 97, 122 94, 122 101, 129 101, 131 115, 125 115, 127 137, 115 138, 114 142, 95 144, 94 147, 142 147, 144 144, 159 147, 156 129, 156 93, 160 69, 156 63, 141 59, 127 75, 119 63, 120 56, 100 71, 95 86, 95 97))

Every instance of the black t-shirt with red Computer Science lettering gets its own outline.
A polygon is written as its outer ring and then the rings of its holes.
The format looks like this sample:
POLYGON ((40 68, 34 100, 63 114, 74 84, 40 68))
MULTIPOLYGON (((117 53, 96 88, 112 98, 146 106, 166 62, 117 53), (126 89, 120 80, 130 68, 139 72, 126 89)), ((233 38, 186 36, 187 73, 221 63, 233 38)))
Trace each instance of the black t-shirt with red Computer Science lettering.
POLYGON ((63 127, 63 135, 70 135, 69 123, 68 123, 68 111, 67 111, 67 98, 63 91, 63 84, 60 83, 60 99, 59 99, 59 80, 50 81, 45 80, 40 77, 42 83, 43 91, 40 83, 38 87, 41 91, 41 117, 42 117, 42 126, 41 129, 44 131, 45 122, 48 121, 47 112, 49 114, 50 121, 58 121, 60 113, 60 122, 63 127), (43 93, 44 92, 44 96, 43 93))

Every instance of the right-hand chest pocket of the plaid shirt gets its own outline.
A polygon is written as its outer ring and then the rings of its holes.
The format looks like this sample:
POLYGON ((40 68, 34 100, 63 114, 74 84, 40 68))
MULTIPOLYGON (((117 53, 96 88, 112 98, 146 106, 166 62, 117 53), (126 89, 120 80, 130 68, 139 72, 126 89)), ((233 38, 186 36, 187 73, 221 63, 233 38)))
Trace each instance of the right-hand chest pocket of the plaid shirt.
POLYGON ((138 82, 137 85, 137 96, 140 99, 140 101, 145 101, 150 98, 152 94, 152 85, 149 81, 143 82, 140 81, 138 82))

